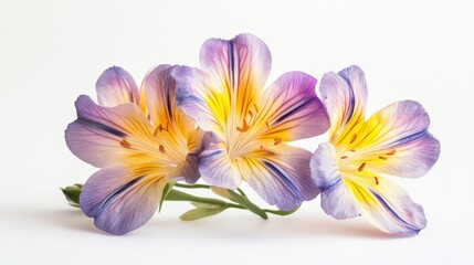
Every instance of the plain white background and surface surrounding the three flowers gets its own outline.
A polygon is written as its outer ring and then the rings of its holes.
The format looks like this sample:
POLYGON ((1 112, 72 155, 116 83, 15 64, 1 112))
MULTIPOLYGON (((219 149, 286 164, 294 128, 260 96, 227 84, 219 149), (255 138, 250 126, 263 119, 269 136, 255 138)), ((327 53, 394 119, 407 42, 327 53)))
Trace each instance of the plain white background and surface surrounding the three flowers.
MULTIPOLYGON (((474 264, 470 2, 1 1, 0 264, 474 264), (65 203, 59 187, 96 169, 69 151, 64 129, 105 68, 120 65, 140 83, 161 63, 197 66, 202 42, 241 32, 270 46, 270 82, 358 64, 369 113, 423 104, 440 160, 421 179, 396 181, 424 206, 425 230, 393 237, 364 219, 335 221, 316 199, 267 221, 230 210, 181 222, 190 206, 166 203, 144 227, 109 236, 65 203)), ((325 139, 303 145, 314 151, 325 139)))

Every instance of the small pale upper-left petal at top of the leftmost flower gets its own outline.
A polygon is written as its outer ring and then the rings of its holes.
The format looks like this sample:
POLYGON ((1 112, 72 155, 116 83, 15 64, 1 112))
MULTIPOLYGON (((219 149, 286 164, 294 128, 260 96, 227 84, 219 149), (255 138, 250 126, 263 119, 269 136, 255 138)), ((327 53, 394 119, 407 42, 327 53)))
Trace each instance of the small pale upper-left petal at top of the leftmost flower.
POLYGON ((131 75, 122 67, 113 66, 98 77, 97 102, 102 106, 115 107, 124 103, 139 104, 138 88, 131 75))

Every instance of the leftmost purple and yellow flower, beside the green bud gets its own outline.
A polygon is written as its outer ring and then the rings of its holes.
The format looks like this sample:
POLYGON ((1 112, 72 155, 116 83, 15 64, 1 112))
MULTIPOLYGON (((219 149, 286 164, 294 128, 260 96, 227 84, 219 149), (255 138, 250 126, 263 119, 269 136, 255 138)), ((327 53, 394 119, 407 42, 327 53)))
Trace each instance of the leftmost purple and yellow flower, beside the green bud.
POLYGON ((197 155, 203 132, 176 107, 169 65, 150 71, 138 93, 119 67, 105 71, 96 88, 98 104, 77 98, 77 119, 65 130, 71 151, 102 168, 82 188, 81 209, 95 225, 125 234, 156 212, 166 184, 199 178, 197 155))

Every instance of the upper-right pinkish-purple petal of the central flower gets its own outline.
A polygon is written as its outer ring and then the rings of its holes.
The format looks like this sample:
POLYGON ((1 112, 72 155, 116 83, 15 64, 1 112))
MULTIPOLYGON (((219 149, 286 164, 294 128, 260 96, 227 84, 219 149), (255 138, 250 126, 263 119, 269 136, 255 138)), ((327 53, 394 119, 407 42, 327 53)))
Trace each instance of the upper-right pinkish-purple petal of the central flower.
POLYGON ((261 96, 254 130, 264 138, 297 140, 325 132, 329 118, 315 93, 316 78, 302 72, 282 75, 261 96), (259 124, 259 125, 257 125, 259 124))

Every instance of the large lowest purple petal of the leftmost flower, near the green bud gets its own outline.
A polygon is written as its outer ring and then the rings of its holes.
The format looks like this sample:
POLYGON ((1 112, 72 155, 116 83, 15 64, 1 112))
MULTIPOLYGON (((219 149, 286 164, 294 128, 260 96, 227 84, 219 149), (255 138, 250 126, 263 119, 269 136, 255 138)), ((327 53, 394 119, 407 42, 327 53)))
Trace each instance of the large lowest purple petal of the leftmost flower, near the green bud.
POLYGON ((95 225, 110 234, 125 234, 155 214, 166 181, 138 176, 123 167, 102 169, 82 188, 81 209, 95 225))

